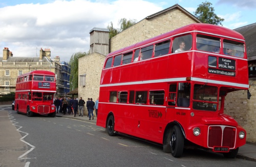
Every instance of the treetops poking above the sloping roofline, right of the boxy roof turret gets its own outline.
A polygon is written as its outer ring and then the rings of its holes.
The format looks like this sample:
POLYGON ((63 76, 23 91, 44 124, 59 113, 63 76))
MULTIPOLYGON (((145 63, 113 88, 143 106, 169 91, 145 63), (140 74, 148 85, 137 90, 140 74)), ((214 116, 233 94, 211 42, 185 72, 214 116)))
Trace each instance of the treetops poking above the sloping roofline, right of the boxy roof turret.
POLYGON ((112 37, 116 36, 118 33, 122 32, 123 30, 135 25, 136 22, 137 22, 136 19, 127 20, 126 18, 121 18, 120 20, 118 20, 118 26, 120 27, 118 29, 118 28, 113 27, 113 22, 111 21, 110 24, 108 25, 108 27, 106 27, 107 29, 110 30, 109 38, 112 38, 112 37))

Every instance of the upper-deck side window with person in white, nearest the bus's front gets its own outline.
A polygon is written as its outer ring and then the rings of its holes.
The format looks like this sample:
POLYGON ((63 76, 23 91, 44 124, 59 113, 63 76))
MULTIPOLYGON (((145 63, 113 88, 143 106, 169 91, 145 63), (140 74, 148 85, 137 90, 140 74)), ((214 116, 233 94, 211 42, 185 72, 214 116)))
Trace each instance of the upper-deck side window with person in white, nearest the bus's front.
POLYGON ((179 53, 191 50, 192 47, 192 35, 187 34, 174 38, 172 53, 179 53))

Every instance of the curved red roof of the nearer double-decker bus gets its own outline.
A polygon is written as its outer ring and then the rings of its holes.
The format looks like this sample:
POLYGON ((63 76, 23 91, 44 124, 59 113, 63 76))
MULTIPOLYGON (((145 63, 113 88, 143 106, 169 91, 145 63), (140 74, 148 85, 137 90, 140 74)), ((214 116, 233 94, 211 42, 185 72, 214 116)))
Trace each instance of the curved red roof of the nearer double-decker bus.
POLYGON ((173 31, 169 31, 169 32, 161 34, 159 36, 156 36, 156 37, 153 37, 150 39, 146 39, 142 42, 138 42, 136 44, 124 47, 120 50, 114 51, 114 52, 110 53, 107 57, 116 55, 116 54, 119 54, 119 53, 122 53, 125 51, 130 51, 136 47, 140 47, 145 44, 149 44, 149 43, 152 43, 152 42, 155 42, 158 40, 162 40, 164 38, 179 35, 179 34, 182 34, 185 32, 192 32, 192 31, 205 32, 205 33, 215 34, 215 35, 223 36, 223 37, 236 38, 236 39, 240 39, 243 41, 245 40, 243 35, 241 35, 240 33, 230 30, 228 28, 222 27, 222 26, 211 25, 211 24, 207 24, 207 23, 191 23, 190 25, 178 28, 173 31))

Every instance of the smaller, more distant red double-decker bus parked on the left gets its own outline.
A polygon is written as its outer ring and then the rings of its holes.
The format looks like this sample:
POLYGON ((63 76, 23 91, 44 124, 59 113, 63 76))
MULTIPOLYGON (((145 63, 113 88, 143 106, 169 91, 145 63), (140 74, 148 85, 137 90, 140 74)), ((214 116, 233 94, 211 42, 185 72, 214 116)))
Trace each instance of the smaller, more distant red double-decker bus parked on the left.
POLYGON ((53 96, 56 93, 55 74, 46 70, 34 70, 18 76, 15 90, 17 113, 35 113, 54 117, 53 96))

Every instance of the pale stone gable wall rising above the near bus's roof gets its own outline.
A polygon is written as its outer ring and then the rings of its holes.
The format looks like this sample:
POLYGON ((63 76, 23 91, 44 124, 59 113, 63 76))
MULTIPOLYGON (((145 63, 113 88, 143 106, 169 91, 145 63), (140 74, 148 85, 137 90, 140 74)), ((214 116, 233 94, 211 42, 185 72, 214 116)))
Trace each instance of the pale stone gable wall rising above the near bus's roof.
POLYGON ((195 22, 177 8, 168 10, 152 18, 143 19, 111 38, 110 52, 195 22))

